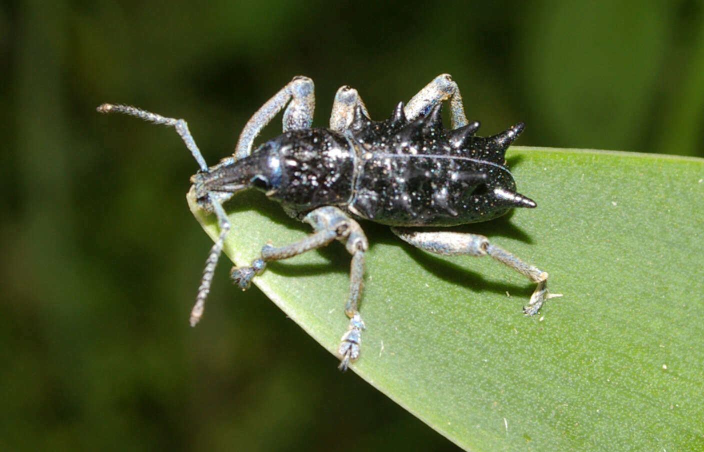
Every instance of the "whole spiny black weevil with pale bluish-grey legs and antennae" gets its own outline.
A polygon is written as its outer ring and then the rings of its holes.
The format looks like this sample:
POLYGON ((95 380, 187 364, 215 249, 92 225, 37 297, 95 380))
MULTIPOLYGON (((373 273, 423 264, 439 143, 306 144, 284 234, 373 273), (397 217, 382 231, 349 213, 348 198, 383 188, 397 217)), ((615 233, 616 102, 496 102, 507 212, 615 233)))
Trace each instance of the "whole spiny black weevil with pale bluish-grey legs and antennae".
POLYGON ((335 95, 328 129, 311 128, 313 80, 294 77, 254 113, 244 126, 234 155, 208 167, 186 122, 131 106, 103 103, 101 113, 119 112, 175 127, 200 166, 191 177, 191 192, 203 211, 214 213, 220 234, 203 270, 191 325, 203 315, 215 264, 230 231, 222 203, 244 189, 256 188, 284 210, 313 226, 305 239, 286 246, 267 244, 249 267, 232 268, 232 278, 246 289, 272 260, 290 258, 339 240, 352 255, 350 319, 341 338, 340 368, 360 353, 364 322, 357 310, 367 237, 356 219, 391 226, 413 246, 442 255, 489 255, 538 284, 524 313, 533 315, 551 296, 548 273, 529 265, 482 235, 432 231, 491 220, 513 207, 536 203, 518 194, 505 166, 508 145, 523 130, 518 123, 492 137, 477 137, 479 123, 465 117, 460 89, 448 74, 427 84, 406 105, 398 103, 387 120, 373 121, 356 89, 344 86, 335 95), (441 104, 450 103, 451 130, 441 121, 441 104), (285 108, 285 109, 284 109, 285 108), (283 133, 253 149, 259 132, 284 110, 283 133), (419 229, 422 228, 422 229, 419 229))

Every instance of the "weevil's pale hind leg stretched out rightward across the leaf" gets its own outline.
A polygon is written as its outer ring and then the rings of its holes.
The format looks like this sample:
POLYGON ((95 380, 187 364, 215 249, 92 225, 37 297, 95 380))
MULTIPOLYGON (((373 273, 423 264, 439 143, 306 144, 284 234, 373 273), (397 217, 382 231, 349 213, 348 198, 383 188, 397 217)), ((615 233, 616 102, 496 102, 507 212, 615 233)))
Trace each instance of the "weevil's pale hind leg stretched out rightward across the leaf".
POLYGON ((523 312, 527 315, 534 315, 538 312, 543 302, 562 294, 550 294, 548 292, 548 272, 540 270, 534 265, 525 263, 520 258, 489 243, 489 239, 479 234, 464 234, 461 232, 418 232, 410 229, 392 227, 391 231, 398 237, 407 241, 413 246, 417 246, 431 253, 444 256, 455 256, 467 254, 470 256, 489 255, 499 262, 508 265, 513 270, 528 277, 529 280, 538 284, 529 303, 523 307, 523 312))

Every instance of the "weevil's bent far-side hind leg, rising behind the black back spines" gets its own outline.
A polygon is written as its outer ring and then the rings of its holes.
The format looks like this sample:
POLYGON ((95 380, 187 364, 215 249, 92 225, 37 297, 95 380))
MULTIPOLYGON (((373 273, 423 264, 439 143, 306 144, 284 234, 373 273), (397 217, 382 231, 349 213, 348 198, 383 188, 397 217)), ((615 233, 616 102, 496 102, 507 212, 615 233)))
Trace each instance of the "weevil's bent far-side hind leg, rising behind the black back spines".
MULTIPOLYGON (((440 74, 432 82, 425 85, 418 94, 413 96, 403 109, 408 120, 415 120, 425 115, 438 102, 450 100, 450 123, 453 129, 464 127, 468 124, 465 108, 462 104, 462 95, 457 83, 450 74, 440 74)), ((477 126, 478 127, 478 126, 477 126)))

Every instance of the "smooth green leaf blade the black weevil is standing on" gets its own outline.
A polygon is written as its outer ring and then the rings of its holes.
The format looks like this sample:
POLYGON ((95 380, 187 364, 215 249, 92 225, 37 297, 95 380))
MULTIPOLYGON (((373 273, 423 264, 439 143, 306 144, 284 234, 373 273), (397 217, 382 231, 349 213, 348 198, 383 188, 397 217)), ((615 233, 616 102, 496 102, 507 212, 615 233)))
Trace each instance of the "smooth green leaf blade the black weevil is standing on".
MULTIPOLYGON (((526 317, 534 284, 517 272, 362 222, 367 329, 353 371, 473 451, 703 450, 704 160, 523 147, 508 160, 538 208, 464 230, 547 270, 564 296, 526 317)), ((237 265, 309 232, 256 192, 227 208, 237 265)), ((348 324, 349 257, 333 244, 255 279, 331 353, 348 324)))

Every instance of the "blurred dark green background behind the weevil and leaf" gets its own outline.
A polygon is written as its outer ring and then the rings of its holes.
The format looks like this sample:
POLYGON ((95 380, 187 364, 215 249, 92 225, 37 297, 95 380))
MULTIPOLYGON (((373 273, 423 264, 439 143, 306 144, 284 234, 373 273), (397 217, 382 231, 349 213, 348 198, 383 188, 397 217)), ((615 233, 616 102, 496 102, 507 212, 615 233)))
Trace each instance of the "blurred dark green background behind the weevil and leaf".
POLYGON ((703 5, 573 3, 4 2, 0 449, 454 450, 225 261, 191 329, 196 163, 172 130, 94 109, 184 117, 213 164, 294 75, 325 126, 341 84, 384 118, 447 72, 483 134, 523 120, 517 144, 704 156, 703 5))

